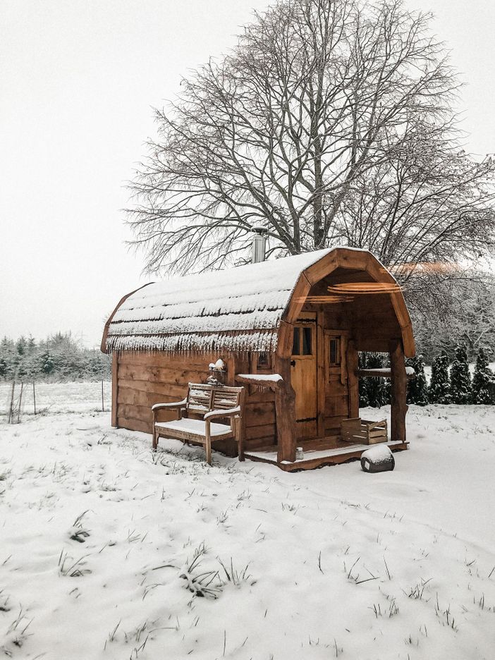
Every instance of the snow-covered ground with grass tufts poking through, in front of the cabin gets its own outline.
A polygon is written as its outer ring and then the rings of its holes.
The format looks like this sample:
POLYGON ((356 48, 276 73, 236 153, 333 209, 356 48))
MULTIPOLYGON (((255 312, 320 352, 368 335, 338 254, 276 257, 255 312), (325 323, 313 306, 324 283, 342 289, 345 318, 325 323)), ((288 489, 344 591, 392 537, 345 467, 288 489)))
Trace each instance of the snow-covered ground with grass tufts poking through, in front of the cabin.
POLYGON ((411 406, 393 472, 289 474, 152 456, 108 413, 3 420, 0 658, 491 660, 494 429, 411 406))

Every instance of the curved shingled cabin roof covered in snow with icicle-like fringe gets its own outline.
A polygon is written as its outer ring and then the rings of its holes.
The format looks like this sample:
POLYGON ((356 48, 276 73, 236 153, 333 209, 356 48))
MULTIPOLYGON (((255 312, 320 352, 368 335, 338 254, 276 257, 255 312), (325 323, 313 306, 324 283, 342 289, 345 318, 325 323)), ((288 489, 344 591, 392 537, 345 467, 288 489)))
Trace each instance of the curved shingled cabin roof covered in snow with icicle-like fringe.
MULTIPOLYGON (((274 351, 293 291, 298 283, 299 291, 301 279, 308 282, 303 274, 313 266, 321 271, 320 262, 328 274, 336 267, 329 257, 341 253, 372 257, 365 250, 334 247, 145 285, 118 303, 106 322, 102 350, 274 351), (331 261, 328 269, 326 261, 331 261)), ((394 281, 379 265, 386 281, 394 281)))

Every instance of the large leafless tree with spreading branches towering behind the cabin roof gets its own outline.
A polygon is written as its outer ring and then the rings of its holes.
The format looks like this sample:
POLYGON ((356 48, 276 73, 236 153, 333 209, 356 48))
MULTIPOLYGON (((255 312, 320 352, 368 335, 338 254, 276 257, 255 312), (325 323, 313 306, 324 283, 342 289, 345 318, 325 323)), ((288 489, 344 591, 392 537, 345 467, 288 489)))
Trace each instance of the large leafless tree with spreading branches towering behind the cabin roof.
POLYGON ((159 138, 131 185, 149 271, 271 251, 373 250, 411 264, 493 245, 494 164, 458 145, 458 87, 429 16, 400 0, 282 0, 156 111, 159 138))

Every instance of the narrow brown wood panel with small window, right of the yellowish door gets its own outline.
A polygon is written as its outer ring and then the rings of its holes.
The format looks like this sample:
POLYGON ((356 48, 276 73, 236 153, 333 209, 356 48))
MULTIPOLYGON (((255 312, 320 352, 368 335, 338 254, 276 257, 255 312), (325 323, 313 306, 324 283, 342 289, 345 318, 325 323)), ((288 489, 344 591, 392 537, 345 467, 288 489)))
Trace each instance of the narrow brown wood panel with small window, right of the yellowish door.
POLYGON ((347 371, 348 333, 324 331, 325 433, 340 433, 341 421, 349 417, 347 371))

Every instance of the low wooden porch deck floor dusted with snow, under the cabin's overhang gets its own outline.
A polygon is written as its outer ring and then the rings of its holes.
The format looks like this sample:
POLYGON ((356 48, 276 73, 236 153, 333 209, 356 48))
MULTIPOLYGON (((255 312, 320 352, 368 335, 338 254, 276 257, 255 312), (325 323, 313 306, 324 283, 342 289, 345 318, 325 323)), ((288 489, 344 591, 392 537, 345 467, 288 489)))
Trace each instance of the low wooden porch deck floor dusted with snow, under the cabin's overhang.
MULTIPOLYGON (((403 451, 408 449, 409 445, 408 442, 401 441, 388 441, 383 444, 390 447, 391 451, 403 451)), ((376 445, 353 444, 341 440, 340 436, 329 436, 316 440, 300 440, 298 446, 302 447, 304 458, 295 460, 294 463, 288 460, 278 463, 276 446, 274 445, 259 448, 256 451, 246 451, 245 458, 278 465, 281 470, 293 472, 294 470, 313 470, 314 468, 320 468, 322 465, 345 463, 348 460, 361 458, 363 451, 376 445)))

